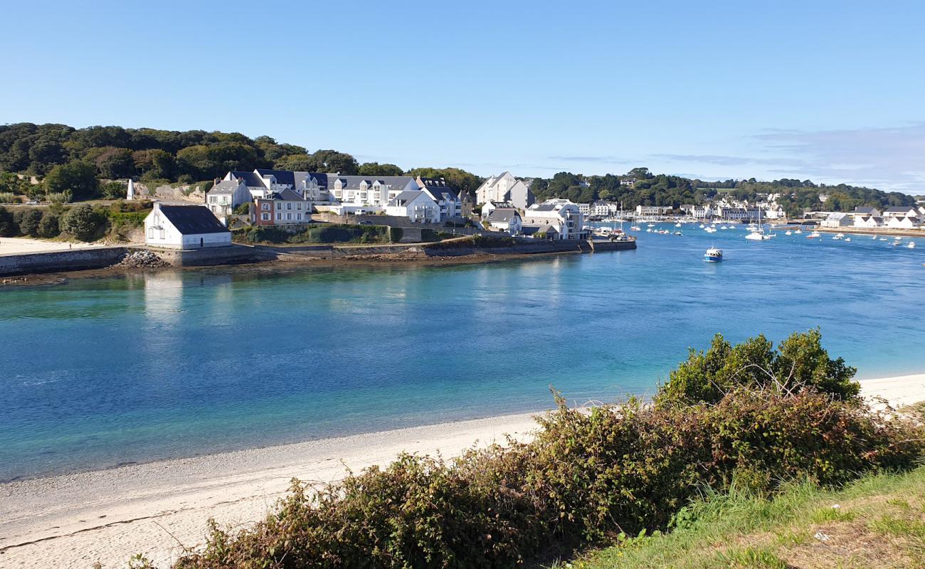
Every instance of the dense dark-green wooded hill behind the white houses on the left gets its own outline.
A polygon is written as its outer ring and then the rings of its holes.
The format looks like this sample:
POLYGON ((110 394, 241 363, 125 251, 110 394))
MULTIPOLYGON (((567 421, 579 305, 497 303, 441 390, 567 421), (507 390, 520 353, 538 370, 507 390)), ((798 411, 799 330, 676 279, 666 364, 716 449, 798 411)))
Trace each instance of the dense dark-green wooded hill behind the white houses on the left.
MULTIPOLYGON (((482 180, 459 168, 419 167, 405 170, 394 164, 360 164, 336 150, 309 153, 295 144, 268 136, 249 138, 238 132, 205 130, 123 129, 28 122, 0 125, 0 173, 29 174, 64 181, 46 191, 70 190, 75 199, 102 195, 93 180, 138 178, 154 182, 195 182, 216 179, 229 170, 254 168, 340 172, 363 176, 425 176, 445 178, 457 189, 475 192, 482 180), (63 170, 63 172, 62 172, 63 170), (67 187, 74 184, 76 187, 67 187)), ((27 181, 0 176, 0 192, 30 194, 27 181)))

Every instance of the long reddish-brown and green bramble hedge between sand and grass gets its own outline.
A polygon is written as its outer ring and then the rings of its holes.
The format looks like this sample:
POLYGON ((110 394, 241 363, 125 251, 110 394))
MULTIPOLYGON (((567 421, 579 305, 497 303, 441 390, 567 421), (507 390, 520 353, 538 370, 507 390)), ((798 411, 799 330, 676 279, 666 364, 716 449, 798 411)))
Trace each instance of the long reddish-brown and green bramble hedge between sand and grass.
MULTIPOLYGON (((234 535, 212 524, 205 550, 175 566, 511 567, 664 529, 703 489, 734 479, 772 492, 793 479, 833 486, 914 466, 922 427, 820 390, 827 384, 813 374, 844 370, 811 334, 796 336, 771 362, 815 362, 804 369, 817 385, 746 382, 716 402, 630 400, 590 413, 557 397, 529 443, 450 463, 406 454, 316 491, 293 481, 264 522, 234 535)), ((736 354, 768 355, 766 344, 746 344, 736 354)))

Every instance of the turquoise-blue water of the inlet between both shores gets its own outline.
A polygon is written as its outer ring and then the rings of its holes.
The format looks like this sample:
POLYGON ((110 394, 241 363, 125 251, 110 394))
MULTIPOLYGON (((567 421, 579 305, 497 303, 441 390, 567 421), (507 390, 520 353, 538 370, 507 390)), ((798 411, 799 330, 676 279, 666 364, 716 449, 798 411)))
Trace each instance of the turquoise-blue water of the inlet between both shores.
POLYGON ((858 377, 925 370, 925 240, 639 235, 491 265, 7 288, 0 479, 538 410, 550 384, 647 394, 715 332, 819 326, 858 377), (724 262, 701 260, 712 244, 724 262))

